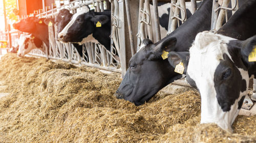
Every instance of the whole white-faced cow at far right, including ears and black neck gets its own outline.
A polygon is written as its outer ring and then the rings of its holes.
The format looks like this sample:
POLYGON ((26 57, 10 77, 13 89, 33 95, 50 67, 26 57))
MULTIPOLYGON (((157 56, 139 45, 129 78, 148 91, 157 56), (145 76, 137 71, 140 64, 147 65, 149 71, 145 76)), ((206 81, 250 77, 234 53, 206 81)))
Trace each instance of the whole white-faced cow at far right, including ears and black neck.
POLYGON ((248 0, 217 34, 199 33, 189 49, 189 58, 187 53, 169 55, 173 67, 184 63, 187 82, 200 92, 201 123, 216 123, 232 131, 249 78, 256 74, 255 62, 248 58, 256 45, 255 7, 256 0, 248 0))

